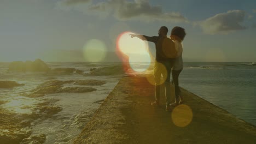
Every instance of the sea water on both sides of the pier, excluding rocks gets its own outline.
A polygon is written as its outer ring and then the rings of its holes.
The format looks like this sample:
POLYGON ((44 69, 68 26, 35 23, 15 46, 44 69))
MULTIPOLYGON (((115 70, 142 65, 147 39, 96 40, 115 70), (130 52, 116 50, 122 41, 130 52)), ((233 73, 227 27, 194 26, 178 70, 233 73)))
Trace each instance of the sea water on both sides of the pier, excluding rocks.
MULTIPOLYGON (((72 143, 90 120, 100 103, 117 85, 122 75, 86 76, 79 74, 70 75, 44 75, 33 73, 8 73, 9 63, 0 63, 1 81, 16 81, 25 86, 11 89, 0 88, 0 108, 6 109, 17 115, 31 114, 38 103, 50 100, 53 105, 60 106, 62 110, 57 114, 47 117, 37 117, 31 123, 31 135, 46 135, 44 143, 72 143), (40 83, 53 80, 102 80, 106 84, 92 86, 97 89, 88 93, 57 93, 44 97, 28 98, 20 95, 21 92, 30 91, 40 83)), ((121 63, 81 63, 81 62, 51 62, 50 68, 76 68, 89 73, 91 68, 112 67, 121 63)), ((145 63, 135 65, 140 71, 145 68, 145 63), (141 67, 139 66, 141 65, 141 67)), ((194 63, 185 62, 184 69, 179 77, 180 86, 199 97, 222 107, 233 115, 256 125, 256 65, 253 63, 194 63)), ((66 87, 72 87, 67 84, 66 87)), ((32 115, 32 114, 31 114, 32 115)), ((1 129, 0 136, 8 130, 1 129)))

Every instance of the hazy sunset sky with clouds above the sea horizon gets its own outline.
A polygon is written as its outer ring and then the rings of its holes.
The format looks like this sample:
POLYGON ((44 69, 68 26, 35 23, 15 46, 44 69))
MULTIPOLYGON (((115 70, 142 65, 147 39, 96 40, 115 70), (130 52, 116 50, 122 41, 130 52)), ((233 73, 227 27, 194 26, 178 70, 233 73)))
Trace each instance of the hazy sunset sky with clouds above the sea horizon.
POLYGON ((86 61, 91 39, 114 52, 120 33, 160 26, 186 29, 185 62, 256 62, 254 0, 1 0, 0 62, 86 61))

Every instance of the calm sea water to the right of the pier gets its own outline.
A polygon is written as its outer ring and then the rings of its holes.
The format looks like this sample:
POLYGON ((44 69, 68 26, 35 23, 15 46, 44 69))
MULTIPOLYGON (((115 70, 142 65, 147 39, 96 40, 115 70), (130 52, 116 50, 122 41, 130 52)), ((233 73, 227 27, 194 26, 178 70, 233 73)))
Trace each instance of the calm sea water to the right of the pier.
POLYGON ((184 63, 180 86, 256 125, 256 65, 184 63))

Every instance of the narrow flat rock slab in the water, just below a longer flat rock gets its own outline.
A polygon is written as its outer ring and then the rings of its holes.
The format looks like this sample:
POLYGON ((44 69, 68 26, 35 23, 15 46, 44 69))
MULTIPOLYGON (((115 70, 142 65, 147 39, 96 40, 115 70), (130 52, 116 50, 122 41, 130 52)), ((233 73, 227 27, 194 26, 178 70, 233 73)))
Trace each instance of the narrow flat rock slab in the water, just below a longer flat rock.
POLYGON ((57 89, 56 93, 86 93, 96 91, 96 88, 92 87, 65 87, 57 89))

